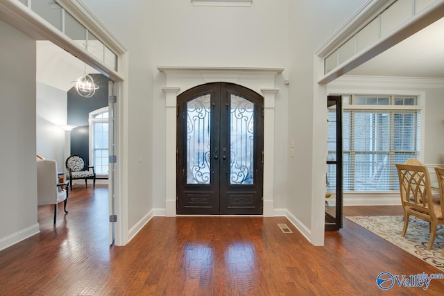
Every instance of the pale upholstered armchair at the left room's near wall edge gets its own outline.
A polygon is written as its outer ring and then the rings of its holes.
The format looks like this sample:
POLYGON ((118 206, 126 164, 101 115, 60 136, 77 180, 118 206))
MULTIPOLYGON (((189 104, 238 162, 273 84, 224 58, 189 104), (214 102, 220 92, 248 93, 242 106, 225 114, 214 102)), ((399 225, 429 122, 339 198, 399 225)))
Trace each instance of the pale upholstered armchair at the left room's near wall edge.
POLYGON ((60 184, 57 174, 57 162, 50 159, 37 159, 37 204, 54 204, 54 224, 57 219, 57 205, 64 202, 67 211, 68 182, 60 184))

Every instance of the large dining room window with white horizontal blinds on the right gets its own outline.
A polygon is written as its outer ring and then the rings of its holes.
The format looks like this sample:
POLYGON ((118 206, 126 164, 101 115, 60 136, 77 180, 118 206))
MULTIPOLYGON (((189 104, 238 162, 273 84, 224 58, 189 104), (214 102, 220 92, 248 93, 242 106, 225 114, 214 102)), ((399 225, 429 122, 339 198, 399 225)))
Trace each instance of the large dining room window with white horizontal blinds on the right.
MULTIPOLYGON (((330 116, 334 113, 329 112, 330 116)), ((329 130, 330 137, 330 130, 329 130)), ((329 145, 329 156, 335 157, 329 145)), ((416 96, 343 96, 343 190, 399 190, 395 163, 420 155, 416 96)), ((328 186, 334 172, 328 172, 328 186)))

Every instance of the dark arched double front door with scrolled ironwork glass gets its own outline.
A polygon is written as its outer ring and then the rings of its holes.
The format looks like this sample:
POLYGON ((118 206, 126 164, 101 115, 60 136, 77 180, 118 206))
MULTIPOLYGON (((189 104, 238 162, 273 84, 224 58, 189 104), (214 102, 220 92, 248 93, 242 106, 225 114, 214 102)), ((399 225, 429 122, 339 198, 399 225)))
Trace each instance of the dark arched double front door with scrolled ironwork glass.
POLYGON ((264 98, 208 83, 177 108, 177 213, 262 214, 264 98))

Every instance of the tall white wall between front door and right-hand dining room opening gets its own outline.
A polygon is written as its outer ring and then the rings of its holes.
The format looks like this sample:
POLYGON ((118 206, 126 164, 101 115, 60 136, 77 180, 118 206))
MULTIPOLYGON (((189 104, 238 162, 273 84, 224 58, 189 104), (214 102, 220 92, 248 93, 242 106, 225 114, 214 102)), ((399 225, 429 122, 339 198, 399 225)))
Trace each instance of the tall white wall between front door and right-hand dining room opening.
POLYGON ((319 98, 318 89, 315 89, 314 52, 365 2, 289 1, 289 140, 296 141, 296 157, 289 157, 286 204, 298 223, 307 227, 305 235, 309 239, 313 235, 311 229, 323 229, 324 223, 323 216, 311 220, 314 211, 312 200, 315 198, 313 188, 324 186, 321 180, 325 180, 325 167, 315 166, 313 159, 326 159, 327 153, 326 98, 319 98), (313 155, 314 145, 325 145, 325 153, 313 155))

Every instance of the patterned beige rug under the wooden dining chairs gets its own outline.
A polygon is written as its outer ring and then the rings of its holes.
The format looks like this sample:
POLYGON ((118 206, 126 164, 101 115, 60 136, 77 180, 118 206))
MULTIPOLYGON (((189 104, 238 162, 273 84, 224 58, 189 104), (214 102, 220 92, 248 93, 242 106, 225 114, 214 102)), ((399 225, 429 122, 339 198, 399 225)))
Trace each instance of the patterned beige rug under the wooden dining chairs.
POLYGON ((444 256, 441 254, 444 247, 442 226, 438 226, 438 234, 432 250, 427 250, 430 238, 429 223, 424 220, 411 216, 407 233, 402 237, 401 232, 404 227, 402 216, 349 216, 345 218, 444 272, 444 256))

